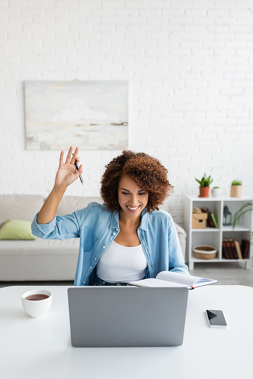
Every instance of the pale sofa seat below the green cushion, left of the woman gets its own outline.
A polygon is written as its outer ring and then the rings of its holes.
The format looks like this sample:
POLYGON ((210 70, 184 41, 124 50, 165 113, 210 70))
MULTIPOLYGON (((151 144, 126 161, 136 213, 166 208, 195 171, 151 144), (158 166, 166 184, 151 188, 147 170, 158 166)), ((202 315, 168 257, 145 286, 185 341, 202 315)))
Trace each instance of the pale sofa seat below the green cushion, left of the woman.
POLYGON ((79 238, 0 241, 0 280, 74 280, 79 238))

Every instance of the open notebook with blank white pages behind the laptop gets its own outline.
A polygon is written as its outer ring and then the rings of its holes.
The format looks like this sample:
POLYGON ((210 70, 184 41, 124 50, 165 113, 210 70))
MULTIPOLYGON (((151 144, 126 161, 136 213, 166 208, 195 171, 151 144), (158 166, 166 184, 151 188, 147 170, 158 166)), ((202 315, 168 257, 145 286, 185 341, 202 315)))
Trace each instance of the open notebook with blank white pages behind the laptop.
POLYGON ((218 283, 218 280, 199 278, 198 276, 179 274, 173 271, 161 271, 156 275, 156 278, 129 282, 129 284, 138 287, 187 287, 189 289, 213 283, 218 283))

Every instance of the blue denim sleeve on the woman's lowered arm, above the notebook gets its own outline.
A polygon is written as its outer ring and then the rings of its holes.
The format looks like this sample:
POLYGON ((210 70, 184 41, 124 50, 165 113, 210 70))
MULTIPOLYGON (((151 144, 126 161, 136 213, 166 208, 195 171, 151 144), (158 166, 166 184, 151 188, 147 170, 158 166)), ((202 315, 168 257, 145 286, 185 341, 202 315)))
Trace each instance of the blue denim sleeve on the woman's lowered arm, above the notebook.
POLYGON ((168 226, 168 252, 170 265, 168 270, 178 272, 180 274, 190 275, 188 266, 185 264, 177 229, 172 218, 170 220, 170 225, 168 226))

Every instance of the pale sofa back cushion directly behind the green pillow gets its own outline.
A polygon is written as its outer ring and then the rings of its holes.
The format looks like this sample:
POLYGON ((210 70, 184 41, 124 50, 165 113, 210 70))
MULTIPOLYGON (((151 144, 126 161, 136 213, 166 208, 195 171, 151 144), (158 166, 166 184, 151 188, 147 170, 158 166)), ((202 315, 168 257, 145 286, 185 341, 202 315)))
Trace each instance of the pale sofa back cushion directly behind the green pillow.
POLYGON ((0 195, 0 227, 9 220, 31 222, 44 201, 40 195, 0 195))

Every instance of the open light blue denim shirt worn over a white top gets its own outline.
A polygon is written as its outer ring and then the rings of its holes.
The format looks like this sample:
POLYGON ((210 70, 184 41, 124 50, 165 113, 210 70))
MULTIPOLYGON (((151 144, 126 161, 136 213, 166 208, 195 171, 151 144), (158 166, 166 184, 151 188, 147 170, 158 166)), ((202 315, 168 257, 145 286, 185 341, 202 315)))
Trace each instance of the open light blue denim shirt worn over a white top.
MULTIPOLYGON (((100 257, 119 233, 118 214, 92 202, 71 215, 56 216, 48 224, 37 224, 36 215, 32 234, 44 239, 80 238, 74 285, 91 285, 100 257)), ((168 270, 189 274, 171 215, 164 210, 149 214, 144 209, 141 216, 138 236, 148 264, 147 277, 168 270)))

